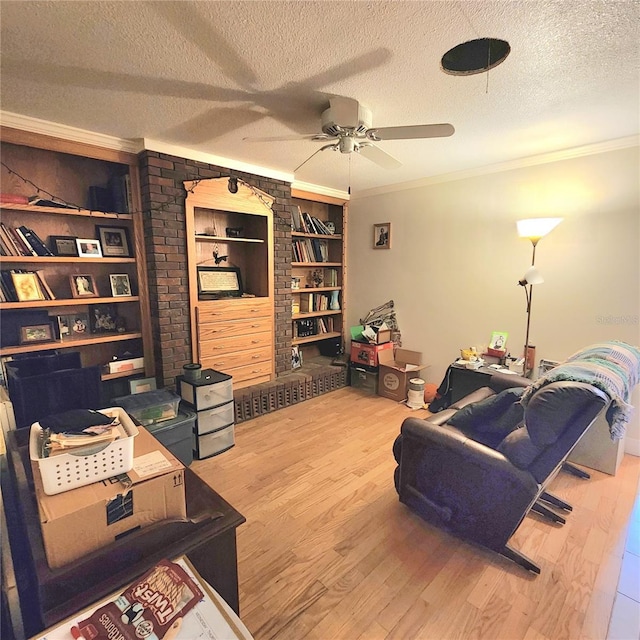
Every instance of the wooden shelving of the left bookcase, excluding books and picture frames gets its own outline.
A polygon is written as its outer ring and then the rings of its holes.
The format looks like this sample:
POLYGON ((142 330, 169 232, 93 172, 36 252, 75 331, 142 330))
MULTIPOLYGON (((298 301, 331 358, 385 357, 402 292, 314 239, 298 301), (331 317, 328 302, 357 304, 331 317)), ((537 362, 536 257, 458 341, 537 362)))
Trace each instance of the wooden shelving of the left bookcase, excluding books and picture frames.
MULTIPOLYGON (((2 167, 3 194, 39 195, 45 199, 53 195, 77 206, 57 208, 3 202, 0 206, 4 225, 33 229, 47 246, 51 236, 99 242, 100 227, 112 229, 113 237, 119 238, 119 247, 107 249, 105 254, 110 255, 105 256, 1 256, 0 267, 5 272, 40 272, 53 299, 2 302, 4 328, 0 356, 74 349, 81 353, 84 366, 93 366, 106 364, 113 356, 129 351, 144 356, 144 369, 105 373, 103 379, 134 373, 154 375, 136 156, 6 127, 0 129, 0 142, 5 165, 2 167), (108 183, 123 180, 125 176, 130 187, 127 208, 131 213, 88 209, 89 187, 99 186, 105 193, 108 183), (74 297, 72 277, 83 275, 93 281, 96 295, 74 297), (116 280, 128 281, 129 289, 112 288, 112 275, 126 275, 127 278, 116 280), (105 317, 99 314, 117 318, 117 327, 115 322, 108 323, 108 328, 101 327, 100 322, 96 326, 92 320, 105 317), (52 340, 25 340, 22 328, 39 324, 37 318, 51 323, 52 340), (73 318, 80 319, 79 328, 84 322, 84 330, 76 333, 71 330, 69 335, 61 336, 60 326, 73 323, 73 318)), ((105 244, 103 236, 101 246, 105 244)))

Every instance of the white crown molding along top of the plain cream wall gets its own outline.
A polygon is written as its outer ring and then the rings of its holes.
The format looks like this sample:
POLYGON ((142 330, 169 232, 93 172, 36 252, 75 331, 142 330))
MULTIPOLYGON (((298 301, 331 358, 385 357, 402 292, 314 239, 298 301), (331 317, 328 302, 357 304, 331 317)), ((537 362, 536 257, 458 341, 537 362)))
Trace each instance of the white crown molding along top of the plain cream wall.
POLYGON ((457 180, 466 180, 478 176, 488 175, 491 173, 502 173, 504 171, 512 171, 514 169, 523 169, 551 162, 561 162, 563 160, 573 160, 574 158, 582 158, 598 153, 607 153, 609 151, 618 151, 620 149, 628 149, 630 147, 640 146, 640 135, 627 136, 625 138, 616 138, 615 140, 607 140, 605 142, 596 142, 594 144, 584 145, 582 147, 574 147, 572 149, 563 149, 561 151, 552 151, 528 158, 518 158, 517 160, 509 160, 498 164, 490 164, 484 167, 476 167, 474 169, 465 169, 463 171, 454 171, 452 173, 443 173, 439 176, 431 176, 429 178, 420 178, 411 182, 400 182, 384 187, 375 187, 373 189, 365 189, 358 191, 351 196, 352 200, 360 198, 368 198, 370 196, 383 195, 385 193, 393 193, 395 191, 407 191, 409 189, 419 189, 443 182, 455 182, 457 180))

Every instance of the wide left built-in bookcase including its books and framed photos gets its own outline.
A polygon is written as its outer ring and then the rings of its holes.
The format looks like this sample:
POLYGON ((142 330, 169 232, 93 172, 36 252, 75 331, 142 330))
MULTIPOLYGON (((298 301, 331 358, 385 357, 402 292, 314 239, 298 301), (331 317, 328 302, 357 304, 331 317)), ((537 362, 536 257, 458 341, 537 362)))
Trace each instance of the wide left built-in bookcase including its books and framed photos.
POLYGON ((154 375, 136 156, 6 127, 0 145, 0 357, 134 354, 144 368, 103 379, 154 375))

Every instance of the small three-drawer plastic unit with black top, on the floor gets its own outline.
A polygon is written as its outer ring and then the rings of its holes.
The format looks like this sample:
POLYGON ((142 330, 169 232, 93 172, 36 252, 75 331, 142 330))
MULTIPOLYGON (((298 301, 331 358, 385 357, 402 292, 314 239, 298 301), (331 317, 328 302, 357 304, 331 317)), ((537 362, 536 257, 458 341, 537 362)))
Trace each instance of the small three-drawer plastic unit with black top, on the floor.
POLYGON ((235 444, 232 378, 226 373, 203 369, 197 380, 176 378, 182 400, 196 412, 195 457, 218 455, 235 444))

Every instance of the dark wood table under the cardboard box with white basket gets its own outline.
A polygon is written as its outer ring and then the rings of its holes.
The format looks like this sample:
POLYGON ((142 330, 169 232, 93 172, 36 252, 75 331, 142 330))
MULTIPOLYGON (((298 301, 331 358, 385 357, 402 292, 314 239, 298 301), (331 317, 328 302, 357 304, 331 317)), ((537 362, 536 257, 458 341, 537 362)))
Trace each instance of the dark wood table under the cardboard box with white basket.
MULTIPOLYGON (((245 518, 189 468, 185 469, 188 522, 145 527, 69 565, 50 569, 38 518, 28 435, 29 429, 6 434, 7 473, 2 487, 27 636, 121 589, 159 560, 181 555, 186 555, 202 578, 240 613, 236 528, 245 518)), ((7 548, 3 542, 3 553, 7 548)))

